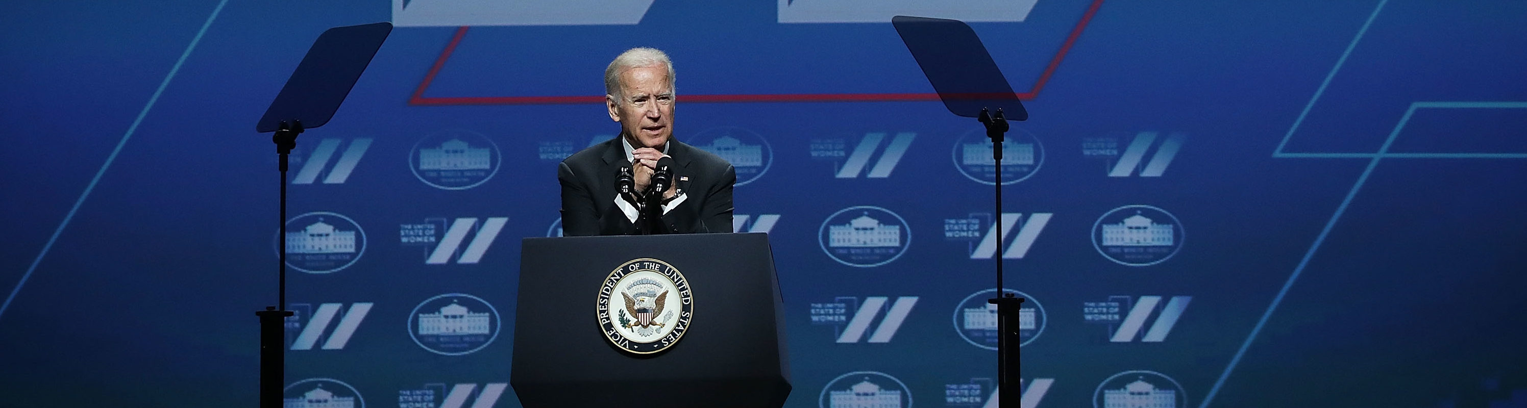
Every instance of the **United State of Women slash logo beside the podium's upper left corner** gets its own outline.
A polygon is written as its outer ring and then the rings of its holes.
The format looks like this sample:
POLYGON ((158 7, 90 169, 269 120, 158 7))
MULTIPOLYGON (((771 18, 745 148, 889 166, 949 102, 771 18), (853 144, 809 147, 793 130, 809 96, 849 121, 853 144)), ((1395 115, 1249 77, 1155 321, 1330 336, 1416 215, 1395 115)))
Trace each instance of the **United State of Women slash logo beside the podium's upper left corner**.
POLYGON ((403 244, 425 246, 426 264, 473 264, 483 261, 505 223, 508 217, 461 217, 444 228, 446 219, 426 219, 399 226, 399 238, 403 244))

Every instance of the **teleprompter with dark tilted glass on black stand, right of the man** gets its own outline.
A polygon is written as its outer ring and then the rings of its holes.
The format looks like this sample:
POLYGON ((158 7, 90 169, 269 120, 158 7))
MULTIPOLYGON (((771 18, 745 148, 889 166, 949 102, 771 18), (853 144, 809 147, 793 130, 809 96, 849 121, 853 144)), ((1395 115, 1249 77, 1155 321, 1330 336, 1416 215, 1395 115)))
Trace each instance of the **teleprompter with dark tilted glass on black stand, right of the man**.
MULTIPOLYGON (((918 60, 922 73, 938 90, 951 113, 976 118, 986 127, 986 138, 991 138, 991 159, 996 165, 994 228, 997 237, 1006 237, 1002 231, 1002 150, 1008 133, 1008 118, 1026 121, 1028 110, 1019 101, 1006 76, 991 60, 991 53, 980 43, 968 24, 959 20, 925 18, 896 15, 892 18, 901 40, 907 43, 912 57, 918 60), (991 112, 989 108, 996 108, 991 112), (1005 113, 1006 112, 1006 113, 1005 113)), ((997 306, 997 397, 999 406, 1019 406, 1022 396, 1022 376, 1019 376, 1019 307, 1023 298, 1017 298, 1005 290, 1002 283, 1002 254, 993 257, 997 263, 997 295, 986 303, 997 306), (1003 396, 1006 396, 1003 399, 1003 396)))

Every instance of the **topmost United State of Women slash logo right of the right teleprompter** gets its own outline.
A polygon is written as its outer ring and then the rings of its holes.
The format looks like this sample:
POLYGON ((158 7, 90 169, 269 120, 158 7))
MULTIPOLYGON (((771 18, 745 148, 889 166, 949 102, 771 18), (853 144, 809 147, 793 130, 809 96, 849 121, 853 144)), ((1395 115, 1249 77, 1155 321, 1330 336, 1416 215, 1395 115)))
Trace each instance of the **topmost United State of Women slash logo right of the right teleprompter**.
POLYGON ((1086 138, 1081 142, 1081 154, 1086 157, 1106 157, 1112 164, 1107 167, 1109 177, 1161 177, 1167 173, 1167 167, 1171 160, 1177 157, 1177 151, 1182 150, 1182 142, 1188 139, 1188 134, 1173 131, 1162 139, 1161 145, 1156 145, 1156 139, 1161 139, 1157 131, 1141 131, 1136 133, 1124 153, 1119 153, 1121 138, 1086 138), (1156 151, 1151 151, 1151 147, 1156 151), (1147 159, 1148 157, 1148 159, 1147 159))

